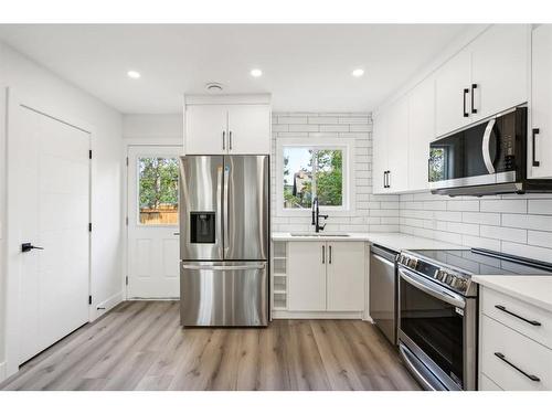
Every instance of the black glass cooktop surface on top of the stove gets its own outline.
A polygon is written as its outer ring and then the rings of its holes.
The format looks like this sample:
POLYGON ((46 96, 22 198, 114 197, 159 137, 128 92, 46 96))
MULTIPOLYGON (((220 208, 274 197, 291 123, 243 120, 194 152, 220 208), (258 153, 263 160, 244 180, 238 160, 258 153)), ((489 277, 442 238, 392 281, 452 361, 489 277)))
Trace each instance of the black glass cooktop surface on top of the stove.
POLYGON ((524 257, 505 255, 486 250, 408 251, 427 262, 463 270, 473 275, 550 275, 552 264, 524 257))

